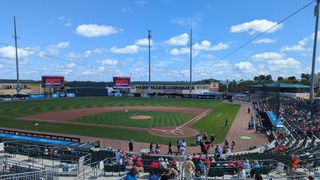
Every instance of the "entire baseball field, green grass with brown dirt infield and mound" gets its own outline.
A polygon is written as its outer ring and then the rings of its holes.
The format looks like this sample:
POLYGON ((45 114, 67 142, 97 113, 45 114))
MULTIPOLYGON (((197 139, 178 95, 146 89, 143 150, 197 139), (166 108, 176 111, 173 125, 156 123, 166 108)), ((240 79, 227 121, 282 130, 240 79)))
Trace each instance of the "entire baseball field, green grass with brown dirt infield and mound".
POLYGON ((0 103, 0 126, 167 144, 214 132, 222 142, 240 105, 218 100, 88 97, 0 103), (225 126, 228 119, 229 126, 225 126))

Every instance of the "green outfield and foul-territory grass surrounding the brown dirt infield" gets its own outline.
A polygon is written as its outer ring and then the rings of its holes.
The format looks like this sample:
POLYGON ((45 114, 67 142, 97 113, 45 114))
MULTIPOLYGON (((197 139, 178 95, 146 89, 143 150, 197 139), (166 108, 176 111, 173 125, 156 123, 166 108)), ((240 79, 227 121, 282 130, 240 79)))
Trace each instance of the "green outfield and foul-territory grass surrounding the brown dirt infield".
MULTIPOLYGON (((32 100, 21 102, 2 102, 0 103, 0 126, 16 129, 26 129, 34 131, 44 131, 53 133, 64 133, 71 135, 82 135, 92 137, 102 137, 110 139, 129 140, 134 139, 140 142, 158 142, 168 144, 169 138, 152 136, 143 131, 124 130, 117 128, 93 127, 72 123, 47 123, 38 121, 18 120, 19 117, 38 114, 48 111, 59 111, 68 109, 111 107, 111 106, 175 106, 175 107, 194 107, 213 109, 206 117, 198 121, 192 128, 200 133, 214 132, 217 142, 222 142, 228 129, 234 120, 240 105, 224 103, 216 100, 196 100, 196 99, 152 99, 152 98, 111 98, 111 97, 90 97, 90 98, 65 98, 32 100), (229 119, 229 127, 224 128, 225 119, 229 119), (35 123, 39 123, 38 126, 35 123)), ((116 113, 116 111, 114 112, 116 113)), ((168 114, 163 112, 163 115, 168 114)), ((185 114, 179 114, 180 120, 185 114)), ((190 119, 190 118, 187 118, 190 119)), ((81 120, 80 120, 81 121, 81 120)), ((130 121, 133 121, 132 119, 130 121)), ((144 121, 144 120, 138 120, 144 121)), ((147 120, 150 121, 150 120, 147 120)), ((174 123, 172 121, 170 123, 174 123)), ((179 123, 177 121, 176 123, 179 123)), ((121 124, 123 126, 125 124, 121 124)), ((150 126, 150 124, 148 124, 150 126)), ((151 125, 153 126, 153 125, 151 125)), ((194 143, 195 138, 188 138, 187 142, 194 143)), ((175 139, 172 139, 173 142, 175 139)))

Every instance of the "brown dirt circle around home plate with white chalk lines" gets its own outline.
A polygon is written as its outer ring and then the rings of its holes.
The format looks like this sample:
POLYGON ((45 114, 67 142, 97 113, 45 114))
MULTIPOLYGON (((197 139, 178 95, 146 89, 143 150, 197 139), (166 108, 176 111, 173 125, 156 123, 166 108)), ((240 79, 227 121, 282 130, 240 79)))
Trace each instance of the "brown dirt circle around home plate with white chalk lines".
POLYGON ((148 131, 154 136, 160 137, 192 137, 198 135, 198 131, 189 127, 161 127, 161 128, 152 128, 148 131))

